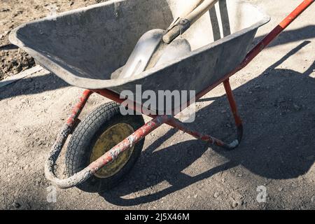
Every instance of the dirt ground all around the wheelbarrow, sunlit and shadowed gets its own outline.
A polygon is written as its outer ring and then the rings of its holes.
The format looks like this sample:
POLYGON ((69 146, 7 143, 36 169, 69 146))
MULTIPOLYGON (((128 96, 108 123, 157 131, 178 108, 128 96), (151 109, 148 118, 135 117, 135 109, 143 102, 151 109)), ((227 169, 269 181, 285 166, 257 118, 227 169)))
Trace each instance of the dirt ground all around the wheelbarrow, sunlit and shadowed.
MULTIPOLYGON (((66 10, 95 1, 45 2, 66 10)), ((272 17, 257 41, 300 1, 251 2, 272 17)), ((56 203, 46 200, 50 183, 44 160, 82 90, 46 71, 2 88, 0 209, 315 209, 314 10, 315 5, 231 78, 244 121, 239 148, 222 151, 164 125, 146 137, 130 175, 104 195, 72 188, 57 190, 56 203), (256 200, 261 186, 266 202, 256 200)), ((1 0, 0 44, 8 43, 6 32, 15 25, 47 13, 43 1, 1 0)), ((2 76, 20 70, 7 64, 20 60, 21 52, 0 54, 1 69, 10 68, 2 76)), ((82 117, 104 102, 93 96, 82 117)), ((235 130, 222 85, 197 102, 197 109, 190 127, 232 139, 235 130)), ((58 169, 64 170, 63 160, 58 169)))

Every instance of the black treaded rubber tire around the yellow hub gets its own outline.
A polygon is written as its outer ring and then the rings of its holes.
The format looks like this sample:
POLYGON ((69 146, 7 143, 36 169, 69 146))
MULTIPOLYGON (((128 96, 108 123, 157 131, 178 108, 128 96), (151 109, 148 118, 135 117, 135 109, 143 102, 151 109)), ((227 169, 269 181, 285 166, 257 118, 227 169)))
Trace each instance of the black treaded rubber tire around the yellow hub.
MULTIPOLYGON (((123 116, 120 114, 119 105, 116 103, 108 103, 99 106, 92 111, 73 132, 66 150, 66 172, 68 176, 72 176, 77 172, 90 165, 90 157, 92 148, 97 139, 111 126, 118 123, 127 123, 138 130, 144 125, 142 116, 123 116)), ((123 181, 123 178, 130 172, 137 162, 142 148, 144 139, 134 146, 134 151, 130 160, 120 171, 106 179, 99 179, 92 176, 85 183, 77 186, 80 190, 88 193, 103 193, 110 190, 123 181)))

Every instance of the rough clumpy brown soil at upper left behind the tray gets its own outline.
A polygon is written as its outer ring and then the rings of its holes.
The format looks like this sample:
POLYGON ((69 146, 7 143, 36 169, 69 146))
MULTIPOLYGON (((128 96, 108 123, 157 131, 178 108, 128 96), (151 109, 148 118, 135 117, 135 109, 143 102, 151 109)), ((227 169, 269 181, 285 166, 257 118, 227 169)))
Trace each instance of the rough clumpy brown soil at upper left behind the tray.
MULTIPOLYGON (((9 44, 10 30, 24 22, 44 18, 53 12, 61 13, 66 10, 89 6, 108 0, 1 0, 0 6, 0 49, 9 44)), ((0 80, 34 66, 34 59, 22 50, 0 50, 1 67, 0 80)))

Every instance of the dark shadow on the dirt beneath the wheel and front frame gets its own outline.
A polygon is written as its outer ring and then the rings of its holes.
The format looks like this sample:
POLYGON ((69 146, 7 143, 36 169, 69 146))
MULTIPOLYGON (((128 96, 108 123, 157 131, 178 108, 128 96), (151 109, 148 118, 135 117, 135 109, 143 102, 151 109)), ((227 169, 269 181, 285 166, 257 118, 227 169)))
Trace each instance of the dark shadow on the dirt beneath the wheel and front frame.
MULTIPOLYGON (((193 183, 207 179, 218 172, 234 167, 233 162, 214 167, 197 176, 188 176, 182 171, 193 164, 207 151, 207 144, 202 141, 183 141, 160 151, 154 151, 154 146, 158 146, 163 141, 172 137, 175 132, 169 131, 162 139, 155 141, 141 155, 139 163, 132 169, 128 177, 115 190, 103 193, 101 196, 107 202, 120 206, 134 206, 160 200, 171 193, 190 186, 193 183), (154 151, 154 152, 151 152, 154 151), (146 190, 167 181, 169 187, 159 190, 154 194, 147 194, 146 190), (131 193, 143 191, 144 196, 137 196, 132 199, 125 199, 123 196, 131 193)), ((141 195, 142 195, 141 194, 141 195)))

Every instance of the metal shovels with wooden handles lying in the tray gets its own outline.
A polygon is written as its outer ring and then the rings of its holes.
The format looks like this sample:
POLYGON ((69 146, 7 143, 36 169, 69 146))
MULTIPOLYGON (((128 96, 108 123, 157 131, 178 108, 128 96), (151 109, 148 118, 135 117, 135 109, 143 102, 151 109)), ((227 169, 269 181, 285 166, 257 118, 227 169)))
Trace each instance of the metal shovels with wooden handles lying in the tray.
POLYGON ((166 31, 163 29, 147 31, 134 47, 119 78, 135 76, 190 52, 191 47, 186 39, 175 40, 175 38, 187 31, 218 1, 196 1, 179 18, 176 18, 166 31))

